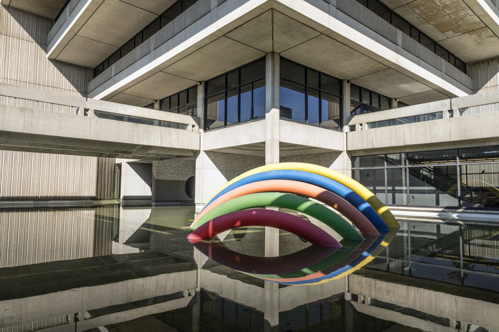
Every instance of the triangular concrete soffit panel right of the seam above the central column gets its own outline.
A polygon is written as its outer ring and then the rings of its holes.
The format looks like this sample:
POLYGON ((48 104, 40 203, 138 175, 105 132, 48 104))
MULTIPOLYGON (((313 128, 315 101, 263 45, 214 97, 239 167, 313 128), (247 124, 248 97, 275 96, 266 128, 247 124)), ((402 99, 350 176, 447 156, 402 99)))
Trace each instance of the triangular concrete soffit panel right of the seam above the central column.
POLYGON ((273 10, 272 13, 272 24, 273 50, 277 53, 281 53, 320 34, 319 31, 276 10, 273 10))

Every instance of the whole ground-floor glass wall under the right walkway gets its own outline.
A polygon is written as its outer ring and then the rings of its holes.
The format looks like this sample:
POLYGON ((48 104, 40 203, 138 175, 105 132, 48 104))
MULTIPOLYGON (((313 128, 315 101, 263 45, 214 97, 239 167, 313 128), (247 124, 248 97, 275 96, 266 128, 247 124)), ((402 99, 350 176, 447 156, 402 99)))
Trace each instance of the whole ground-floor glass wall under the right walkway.
POLYGON ((499 208, 499 146, 353 157, 385 204, 499 208))

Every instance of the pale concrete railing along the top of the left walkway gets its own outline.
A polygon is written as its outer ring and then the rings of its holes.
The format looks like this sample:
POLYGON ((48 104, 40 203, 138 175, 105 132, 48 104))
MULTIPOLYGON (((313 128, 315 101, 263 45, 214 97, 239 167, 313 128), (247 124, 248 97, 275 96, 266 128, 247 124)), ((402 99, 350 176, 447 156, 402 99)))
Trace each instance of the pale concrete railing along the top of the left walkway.
POLYGON ((0 104, 199 132, 188 115, 9 84, 0 84, 0 104))

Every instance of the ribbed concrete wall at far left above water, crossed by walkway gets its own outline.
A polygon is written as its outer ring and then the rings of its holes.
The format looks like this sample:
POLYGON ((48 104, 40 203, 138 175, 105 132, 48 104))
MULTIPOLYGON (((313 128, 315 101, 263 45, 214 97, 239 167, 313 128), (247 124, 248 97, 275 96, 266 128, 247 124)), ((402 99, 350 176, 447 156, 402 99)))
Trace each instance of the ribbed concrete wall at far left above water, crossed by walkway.
MULTIPOLYGON (((92 69, 47 60, 53 21, 0 6, 0 83, 86 96, 92 69)), ((58 113, 76 108, 0 96, 0 103, 58 113)), ((114 159, 0 151, 0 200, 117 198, 114 159)))

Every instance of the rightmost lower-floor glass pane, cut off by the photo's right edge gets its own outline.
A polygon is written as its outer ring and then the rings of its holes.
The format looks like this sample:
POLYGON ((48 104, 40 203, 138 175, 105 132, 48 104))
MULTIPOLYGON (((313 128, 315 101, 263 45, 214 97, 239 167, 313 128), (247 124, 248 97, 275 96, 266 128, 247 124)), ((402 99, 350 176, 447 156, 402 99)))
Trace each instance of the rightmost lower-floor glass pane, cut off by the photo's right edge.
POLYGON ((499 164, 461 165, 461 204, 499 207, 499 164))

